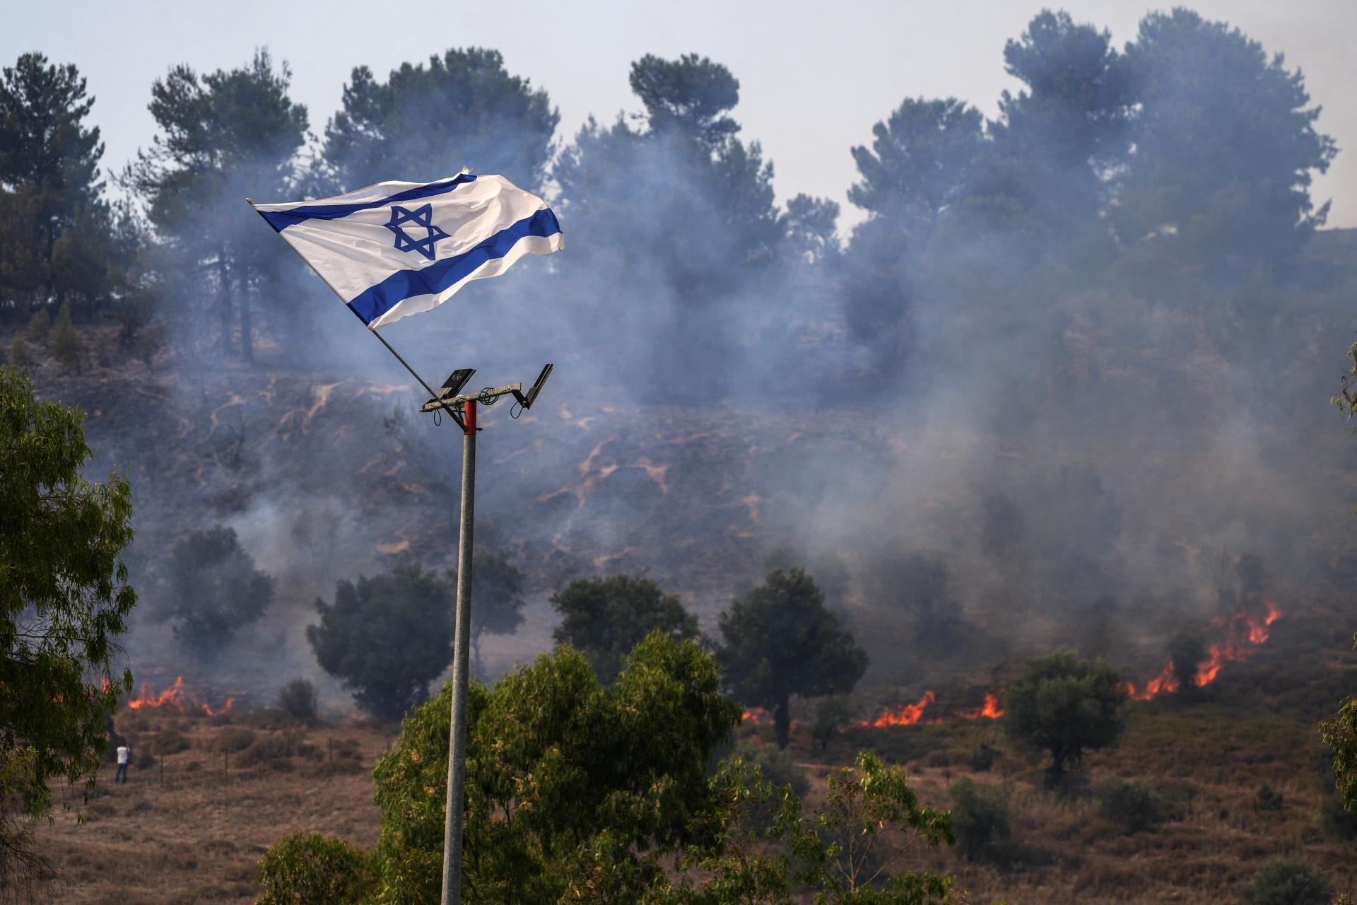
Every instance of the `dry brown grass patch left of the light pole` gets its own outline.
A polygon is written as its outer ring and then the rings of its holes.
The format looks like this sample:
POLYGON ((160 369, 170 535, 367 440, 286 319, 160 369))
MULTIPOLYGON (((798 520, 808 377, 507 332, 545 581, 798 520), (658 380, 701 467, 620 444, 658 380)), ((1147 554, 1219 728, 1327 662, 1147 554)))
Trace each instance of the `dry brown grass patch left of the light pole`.
POLYGON ((149 768, 133 768, 126 784, 114 786, 114 768, 106 765, 87 805, 73 798, 69 810, 56 810, 54 824, 41 826, 38 840, 60 875, 41 890, 39 901, 252 902, 259 856, 280 836, 313 830, 358 845, 376 843, 370 771, 389 742, 384 731, 361 723, 316 726, 304 737, 292 730, 293 752, 308 745, 315 750, 246 768, 236 764, 235 752, 282 739, 285 730, 250 730, 254 738, 240 748, 242 727, 220 720, 125 714, 118 729, 138 754, 138 746, 163 733, 182 734, 189 746, 157 754, 149 768), (285 768, 278 769, 280 763, 285 768))

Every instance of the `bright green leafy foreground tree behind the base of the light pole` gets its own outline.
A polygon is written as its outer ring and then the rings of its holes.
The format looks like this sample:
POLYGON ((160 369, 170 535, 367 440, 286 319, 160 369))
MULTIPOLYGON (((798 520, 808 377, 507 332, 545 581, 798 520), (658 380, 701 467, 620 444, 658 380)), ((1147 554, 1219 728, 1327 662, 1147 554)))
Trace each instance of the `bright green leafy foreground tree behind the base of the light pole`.
MULTIPOLYGON (((414 711, 373 772, 377 901, 437 901, 449 689, 414 711)), ((695 841, 706 765, 740 720, 716 663, 649 635, 612 687, 571 647, 468 699, 463 901, 628 902, 695 841)))

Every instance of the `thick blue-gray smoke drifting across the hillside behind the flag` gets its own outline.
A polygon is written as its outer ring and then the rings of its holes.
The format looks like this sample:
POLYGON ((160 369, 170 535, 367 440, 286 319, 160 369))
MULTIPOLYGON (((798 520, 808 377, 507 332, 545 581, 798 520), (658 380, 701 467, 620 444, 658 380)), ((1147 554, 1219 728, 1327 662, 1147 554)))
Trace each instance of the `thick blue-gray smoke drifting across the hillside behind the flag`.
MULTIPOLYGON (((1327 399, 1352 330, 1343 236, 1223 267, 1231 247, 1202 243, 1228 233, 1094 242, 1091 224, 1111 236, 1103 214, 1064 214, 1110 171, 1044 157, 1041 204, 1023 208, 995 187, 1011 182, 993 161, 1008 133, 962 117, 982 144, 944 155, 970 155, 969 194, 875 210, 840 251, 825 205, 773 204, 757 145, 725 115, 729 84, 687 65, 719 103, 634 76, 645 117, 566 145, 546 186, 563 254, 384 331, 430 383, 556 365, 518 422, 508 403, 483 417, 478 532, 531 583, 527 625, 487 639, 493 670, 550 644, 554 589, 616 571, 650 574, 714 631, 765 564, 845 570, 835 602, 889 682, 1052 646, 1156 666, 1168 634, 1223 606, 1244 555, 1284 609, 1341 581, 1352 440, 1327 399)), ((902 109, 892 129, 939 110, 902 109)), ((1065 134, 1052 117, 1042 128, 1065 134)), ((503 159, 540 138, 499 126, 503 159)), ((497 171, 483 136, 478 153, 497 171)), ((503 175, 537 185, 524 167, 503 175)), ((267 232, 244 205, 220 228, 267 232)), ((319 678, 303 628, 337 579, 455 566, 457 433, 414 411, 422 392, 318 280, 280 273, 255 289, 254 366, 182 335, 91 422, 100 463, 133 468, 148 577, 213 524, 274 575, 277 602, 216 676, 256 693, 319 678)), ((159 674, 193 669, 149 617, 129 647, 159 674)))

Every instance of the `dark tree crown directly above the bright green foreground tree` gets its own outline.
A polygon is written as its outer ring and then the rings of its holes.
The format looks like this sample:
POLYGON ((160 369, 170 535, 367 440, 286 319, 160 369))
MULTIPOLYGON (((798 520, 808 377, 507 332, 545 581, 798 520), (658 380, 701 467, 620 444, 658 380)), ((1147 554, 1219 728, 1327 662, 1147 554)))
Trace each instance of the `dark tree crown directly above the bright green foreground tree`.
POLYGON ((697 617, 649 578, 579 578, 552 594, 551 605, 560 613, 552 632, 556 643, 582 650, 605 684, 616 678, 627 654, 650 632, 697 636, 697 617))

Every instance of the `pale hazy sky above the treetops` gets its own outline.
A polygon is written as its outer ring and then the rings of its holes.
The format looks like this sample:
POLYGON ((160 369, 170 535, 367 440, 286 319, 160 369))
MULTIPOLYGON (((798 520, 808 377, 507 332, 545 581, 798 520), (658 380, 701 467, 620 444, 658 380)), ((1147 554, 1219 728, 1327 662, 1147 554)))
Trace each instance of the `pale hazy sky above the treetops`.
MULTIPOLYGON (((172 64, 198 71, 248 62, 256 46, 292 65, 292 96, 319 133, 339 106, 349 71, 369 65, 380 79, 403 61, 448 47, 497 47, 506 68, 544 87, 560 110, 560 137, 573 137, 592 113, 611 121, 635 111, 627 88, 632 60, 696 52, 727 65, 741 84, 734 117, 741 137, 763 142, 776 167, 780 201, 806 191, 844 206, 855 179, 848 148, 871 138, 874 122, 906 96, 958 96, 985 115, 1015 80, 1003 71, 1003 46, 1022 34, 1039 0, 688 0, 643 3, 463 4, 351 3, 347 0, 232 0, 231 3, 109 3, 4 0, 0 62, 26 50, 75 62, 98 98, 92 119, 107 144, 104 170, 118 171, 155 123, 151 83, 172 64)), ((1120 0, 1050 4, 1077 22, 1109 28, 1118 49, 1149 8, 1120 0)), ((1357 227, 1357 0, 1198 0, 1185 3, 1225 19, 1288 66, 1301 66, 1319 128, 1339 155, 1316 179, 1316 204, 1333 199, 1329 224, 1357 227)), ((493 172, 491 161, 476 168, 493 172)), ((445 174, 392 174, 437 178, 445 174)))

